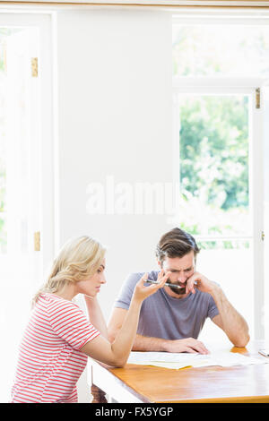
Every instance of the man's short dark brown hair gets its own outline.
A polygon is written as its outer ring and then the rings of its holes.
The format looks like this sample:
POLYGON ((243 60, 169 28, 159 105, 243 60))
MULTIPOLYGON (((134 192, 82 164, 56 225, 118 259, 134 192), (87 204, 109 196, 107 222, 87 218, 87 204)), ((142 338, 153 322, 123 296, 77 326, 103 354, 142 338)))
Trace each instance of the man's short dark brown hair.
POLYGON ((180 228, 173 228, 163 236, 156 247, 156 257, 162 263, 166 257, 183 257, 191 251, 196 254, 200 249, 195 238, 180 228))

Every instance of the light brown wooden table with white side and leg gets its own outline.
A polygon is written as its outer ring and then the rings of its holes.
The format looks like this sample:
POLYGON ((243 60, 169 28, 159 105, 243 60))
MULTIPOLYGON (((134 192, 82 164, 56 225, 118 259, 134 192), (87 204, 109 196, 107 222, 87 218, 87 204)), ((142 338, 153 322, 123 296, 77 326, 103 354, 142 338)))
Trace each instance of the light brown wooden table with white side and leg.
MULTIPOLYGON (((208 348, 216 349, 215 346, 208 348)), ((260 348, 265 348, 265 342, 252 341, 247 348, 231 348, 229 344, 218 348, 261 357, 257 351, 260 348)), ((108 402, 269 402, 269 364, 189 367, 171 370, 133 364, 126 365, 124 368, 112 368, 92 361, 91 382, 97 386, 95 391, 100 388, 101 391, 108 394, 108 402)), ((94 401, 98 402, 98 399, 94 401)))

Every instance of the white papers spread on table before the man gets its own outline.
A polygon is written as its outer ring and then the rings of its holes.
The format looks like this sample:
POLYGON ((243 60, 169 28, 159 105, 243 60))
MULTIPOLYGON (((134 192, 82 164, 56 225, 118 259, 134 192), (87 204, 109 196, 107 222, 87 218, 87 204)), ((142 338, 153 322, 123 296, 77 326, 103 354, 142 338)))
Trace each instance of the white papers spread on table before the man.
POLYGON ((269 360, 265 357, 248 357, 230 351, 214 351, 206 355, 185 352, 131 352, 127 363, 179 369, 187 366, 205 367, 219 365, 221 367, 230 367, 232 365, 266 364, 269 363, 269 360))

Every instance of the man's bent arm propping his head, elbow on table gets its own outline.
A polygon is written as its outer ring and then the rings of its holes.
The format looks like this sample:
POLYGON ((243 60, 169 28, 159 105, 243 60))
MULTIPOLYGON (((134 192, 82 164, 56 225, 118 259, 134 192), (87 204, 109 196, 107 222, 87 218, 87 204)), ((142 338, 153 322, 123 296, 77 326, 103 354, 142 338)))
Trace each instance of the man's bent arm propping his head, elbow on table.
POLYGON ((246 347, 249 340, 247 322, 230 304, 222 289, 198 272, 187 279, 187 292, 195 294, 195 288, 213 296, 220 313, 213 317, 213 322, 226 333, 235 347, 246 347))

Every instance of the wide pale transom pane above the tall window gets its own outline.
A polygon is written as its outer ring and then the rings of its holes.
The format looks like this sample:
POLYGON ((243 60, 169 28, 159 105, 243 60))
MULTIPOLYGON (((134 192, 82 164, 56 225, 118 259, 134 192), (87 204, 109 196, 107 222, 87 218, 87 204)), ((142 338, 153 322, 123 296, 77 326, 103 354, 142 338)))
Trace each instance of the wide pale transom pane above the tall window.
POLYGON ((269 28, 174 25, 173 72, 178 76, 269 76, 269 28))

